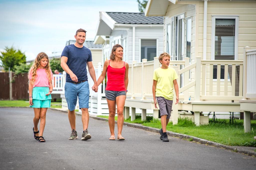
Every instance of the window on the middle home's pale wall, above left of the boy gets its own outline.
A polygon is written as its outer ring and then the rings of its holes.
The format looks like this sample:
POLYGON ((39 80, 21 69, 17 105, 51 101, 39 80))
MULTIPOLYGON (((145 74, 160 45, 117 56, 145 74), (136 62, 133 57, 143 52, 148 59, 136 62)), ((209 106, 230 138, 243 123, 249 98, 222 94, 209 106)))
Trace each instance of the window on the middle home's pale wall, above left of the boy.
POLYGON ((141 61, 147 59, 147 61, 154 60, 156 56, 156 39, 141 39, 141 61))

